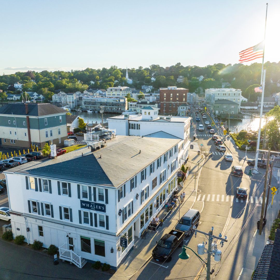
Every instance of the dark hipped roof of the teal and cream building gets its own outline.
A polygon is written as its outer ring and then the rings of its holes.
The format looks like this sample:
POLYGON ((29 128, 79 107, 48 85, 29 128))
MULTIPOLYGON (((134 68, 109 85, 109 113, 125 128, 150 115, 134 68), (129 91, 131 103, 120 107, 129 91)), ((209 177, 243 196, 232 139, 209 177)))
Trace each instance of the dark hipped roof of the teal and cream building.
POLYGON ((67 113, 66 110, 61 109, 49 103, 9 103, 0 108, 0 114, 3 115, 24 115, 24 116, 46 116, 59 113, 67 113), (25 104, 28 106, 28 114, 25 114, 25 104))

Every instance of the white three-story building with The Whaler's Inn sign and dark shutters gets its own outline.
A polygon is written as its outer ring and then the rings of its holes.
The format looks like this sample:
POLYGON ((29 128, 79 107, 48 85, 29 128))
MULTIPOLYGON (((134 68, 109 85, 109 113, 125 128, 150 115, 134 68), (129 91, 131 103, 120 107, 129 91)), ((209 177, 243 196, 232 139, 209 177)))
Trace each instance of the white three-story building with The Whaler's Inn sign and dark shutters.
POLYGON ((5 171, 13 236, 54 244, 78 267, 117 269, 177 186, 179 142, 117 136, 5 171))

